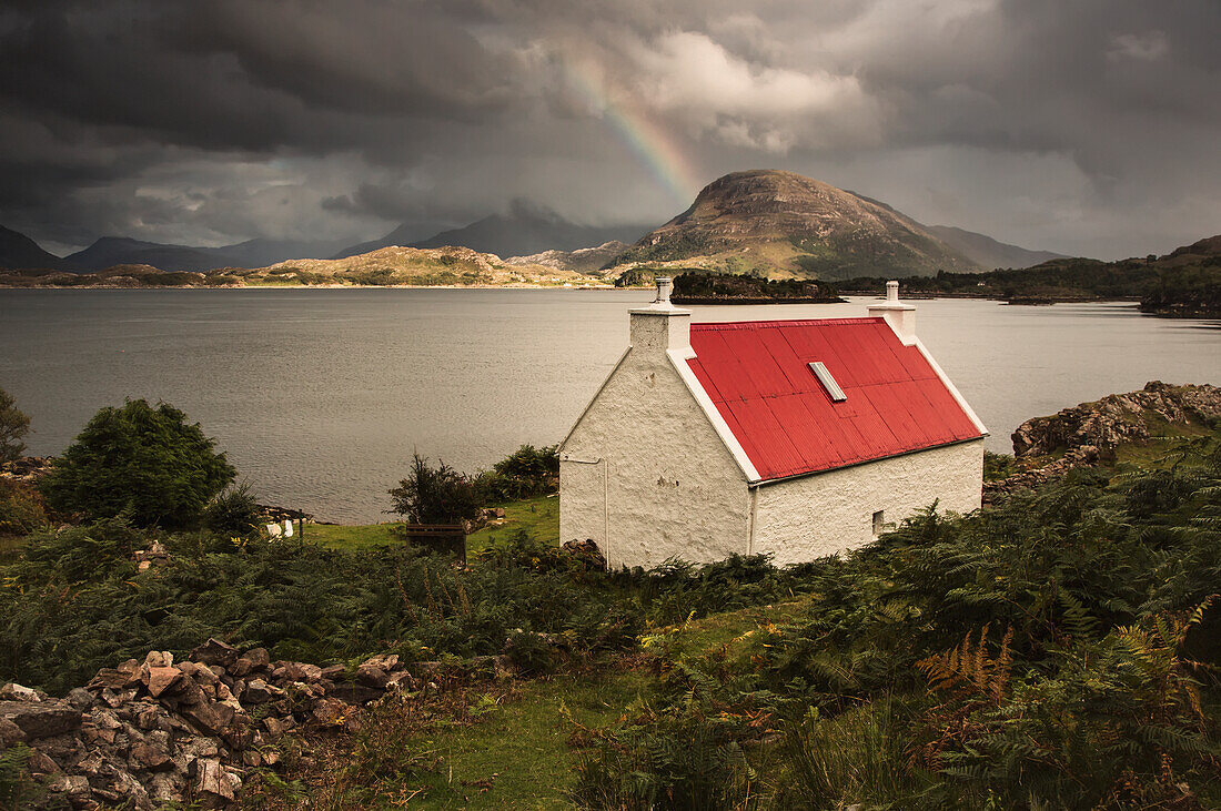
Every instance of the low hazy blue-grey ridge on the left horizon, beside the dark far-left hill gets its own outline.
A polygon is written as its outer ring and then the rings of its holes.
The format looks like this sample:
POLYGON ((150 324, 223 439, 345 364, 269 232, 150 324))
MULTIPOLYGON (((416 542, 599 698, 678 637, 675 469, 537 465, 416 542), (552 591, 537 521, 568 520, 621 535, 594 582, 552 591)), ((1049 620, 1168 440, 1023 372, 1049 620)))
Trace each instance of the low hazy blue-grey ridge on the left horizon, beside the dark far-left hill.
POLYGON ((127 237, 103 237, 67 257, 82 271, 100 271, 114 265, 151 265, 162 271, 211 271, 219 267, 263 267, 287 259, 330 256, 347 240, 293 241, 250 239, 221 248, 192 248, 147 243, 127 237))

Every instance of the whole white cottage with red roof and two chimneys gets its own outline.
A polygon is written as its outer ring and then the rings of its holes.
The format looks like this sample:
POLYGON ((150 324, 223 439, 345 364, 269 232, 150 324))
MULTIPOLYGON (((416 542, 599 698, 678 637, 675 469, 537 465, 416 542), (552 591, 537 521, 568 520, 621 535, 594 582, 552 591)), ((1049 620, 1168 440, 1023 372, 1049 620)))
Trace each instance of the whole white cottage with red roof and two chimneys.
POLYGON ((987 429, 886 284, 868 317, 691 323, 658 279, 560 444, 562 540, 610 567, 808 561, 979 506, 987 429))

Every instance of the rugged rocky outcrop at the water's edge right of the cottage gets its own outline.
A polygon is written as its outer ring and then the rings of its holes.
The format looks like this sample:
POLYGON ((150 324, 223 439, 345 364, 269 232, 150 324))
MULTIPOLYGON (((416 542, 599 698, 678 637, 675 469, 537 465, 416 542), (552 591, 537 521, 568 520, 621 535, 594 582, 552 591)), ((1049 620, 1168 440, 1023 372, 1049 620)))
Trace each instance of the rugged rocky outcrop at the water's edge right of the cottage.
POLYGON ((1027 420, 1013 432, 1018 460, 1065 450, 1046 465, 984 483, 984 504, 1018 489, 1038 487, 1074 467, 1096 465, 1118 445, 1151 439, 1165 423, 1189 424, 1221 418, 1221 388, 1171 385, 1150 380, 1139 391, 1111 394, 1050 417, 1027 420))

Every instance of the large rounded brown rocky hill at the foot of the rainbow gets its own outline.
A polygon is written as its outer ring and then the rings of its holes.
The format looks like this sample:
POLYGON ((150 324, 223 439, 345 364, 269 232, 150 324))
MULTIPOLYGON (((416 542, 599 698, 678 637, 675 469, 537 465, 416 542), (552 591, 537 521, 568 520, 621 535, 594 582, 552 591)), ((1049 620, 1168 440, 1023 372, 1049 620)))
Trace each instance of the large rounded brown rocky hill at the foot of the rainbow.
POLYGON ((772 170, 713 180, 613 262, 641 263, 823 279, 980 270, 890 206, 772 170))

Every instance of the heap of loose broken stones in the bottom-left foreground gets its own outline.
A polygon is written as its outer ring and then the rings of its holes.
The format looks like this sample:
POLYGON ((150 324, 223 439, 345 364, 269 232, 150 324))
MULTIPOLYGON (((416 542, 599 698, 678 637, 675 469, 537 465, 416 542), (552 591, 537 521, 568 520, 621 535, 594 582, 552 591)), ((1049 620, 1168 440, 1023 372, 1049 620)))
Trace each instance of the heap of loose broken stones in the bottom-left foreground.
MULTIPOLYGON (((474 667, 503 674, 507 656, 474 667)), ((236 807, 250 770, 275 768, 277 738, 294 728, 354 731, 357 707, 388 690, 438 689, 441 662, 409 672, 397 655, 342 665, 272 662, 217 639, 175 662, 166 651, 103 668, 65 699, 20 684, 0 688, 0 749, 23 743, 27 767, 73 807, 197 801, 236 807)))

